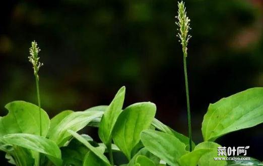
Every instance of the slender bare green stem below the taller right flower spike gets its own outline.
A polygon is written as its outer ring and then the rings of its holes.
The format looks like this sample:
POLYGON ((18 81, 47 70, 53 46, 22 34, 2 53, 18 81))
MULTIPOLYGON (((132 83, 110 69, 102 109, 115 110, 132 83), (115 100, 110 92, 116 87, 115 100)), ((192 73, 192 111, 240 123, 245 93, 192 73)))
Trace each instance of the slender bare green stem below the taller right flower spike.
POLYGON ((188 79, 187 79, 187 70, 186 70, 186 56, 187 54, 184 52, 183 53, 183 68, 184 68, 185 91, 186 91, 186 100, 187 100, 188 134, 189 134, 190 151, 192 151, 191 114, 190 114, 190 101, 189 101, 188 79))

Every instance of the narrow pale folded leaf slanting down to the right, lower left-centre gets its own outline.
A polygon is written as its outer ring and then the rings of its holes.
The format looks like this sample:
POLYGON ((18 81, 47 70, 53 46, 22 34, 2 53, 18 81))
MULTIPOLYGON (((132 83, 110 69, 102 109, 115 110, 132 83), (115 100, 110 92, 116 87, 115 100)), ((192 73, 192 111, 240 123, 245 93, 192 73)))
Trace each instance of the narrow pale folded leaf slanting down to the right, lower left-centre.
POLYGON ((83 138, 77 132, 72 131, 72 130, 68 130, 68 132, 71 133, 76 139, 78 139, 86 147, 88 147, 88 149, 90 149, 91 152, 93 152, 96 156, 98 156, 106 165, 110 165, 107 157, 103 155, 99 149, 97 149, 96 147, 93 147, 85 138, 83 138))

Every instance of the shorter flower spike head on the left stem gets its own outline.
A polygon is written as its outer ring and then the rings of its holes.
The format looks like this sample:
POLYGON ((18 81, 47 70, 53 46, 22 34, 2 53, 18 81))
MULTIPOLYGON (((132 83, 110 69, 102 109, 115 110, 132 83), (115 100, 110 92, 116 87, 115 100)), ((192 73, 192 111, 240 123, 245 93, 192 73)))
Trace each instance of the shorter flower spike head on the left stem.
POLYGON ((28 57, 29 62, 32 63, 33 69, 34 69, 34 75, 38 77, 38 71, 41 66, 43 66, 43 63, 39 62, 38 53, 40 52, 40 49, 37 47, 37 43, 34 41, 31 43, 31 48, 29 49, 30 56, 28 57))

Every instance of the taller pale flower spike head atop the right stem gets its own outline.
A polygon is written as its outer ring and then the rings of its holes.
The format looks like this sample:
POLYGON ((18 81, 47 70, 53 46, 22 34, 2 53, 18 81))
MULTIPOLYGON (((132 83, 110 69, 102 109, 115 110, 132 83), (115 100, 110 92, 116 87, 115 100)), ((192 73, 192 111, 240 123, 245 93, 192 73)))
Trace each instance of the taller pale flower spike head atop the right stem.
POLYGON ((178 2, 178 16, 175 18, 178 20, 175 24, 179 27, 179 33, 176 36, 180 39, 179 42, 182 45, 183 55, 187 57, 187 44, 191 38, 191 36, 188 35, 188 31, 191 28, 190 19, 186 16, 184 2, 182 1, 180 3, 178 2))

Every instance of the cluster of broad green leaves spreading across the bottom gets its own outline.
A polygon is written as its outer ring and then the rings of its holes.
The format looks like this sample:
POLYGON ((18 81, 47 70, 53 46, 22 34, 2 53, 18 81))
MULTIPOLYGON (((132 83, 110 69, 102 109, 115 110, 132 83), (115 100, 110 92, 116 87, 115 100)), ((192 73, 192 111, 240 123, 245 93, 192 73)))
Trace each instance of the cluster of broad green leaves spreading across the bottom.
MULTIPOLYGON (((108 106, 65 110, 52 119, 41 109, 41 124, 38 106, 24 101, 8 103, 9 113, 0 118, 0 149, 7 153, 10 163, 23 166, 110 166, 116 156, 123 160, 115 159, 115 164, 126 166, 219 166, 227 165, 227 161, 214 160, 220 146, 214 141, 263 122, 263 88, 223 98, 210 104, 204 117, 204 142, 192 142, 193 150, 189 151, 188 137, 154 118, 154 103, 140 102, 122 109, 124 95, 125 87, 121 87, 108 106), (98 127, 101 143, 77 133, 87 125, 98 127)), ((257 160, 253 162, 260 165, 257 160)))

